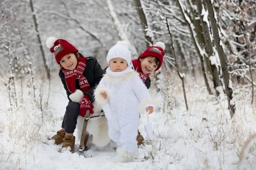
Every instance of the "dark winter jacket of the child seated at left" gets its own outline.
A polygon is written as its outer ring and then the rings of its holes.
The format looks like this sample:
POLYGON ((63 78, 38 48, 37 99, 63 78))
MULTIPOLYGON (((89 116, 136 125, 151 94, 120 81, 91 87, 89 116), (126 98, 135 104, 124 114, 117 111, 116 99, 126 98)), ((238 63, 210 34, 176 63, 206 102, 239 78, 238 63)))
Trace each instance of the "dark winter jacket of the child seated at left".
MULTIPOLYGON (((102 68, 99 65, 99 62, 97 61, 96 58, 85 57, 85 59, 87 60, 87 63, 86 63, 86 67, 84 69, 83 75, 87 79, 91 88, 88 91, 84 92, 84 94, 87 94, 90 97, 91 102, 93 102, 94 101, 93 93, 96 88, 96 85, 99 84, 100 80, 103 77, 103 71, 102 71, 102 68)), ((69 96, 70 96, 71 92, 67 89, 65 75, 61 69, 59 72, 59 77, 61 77, 61 82, 64 85, 64 88, 67 92, 67 98, 70 100, 69 96)), ((76 89, 81 90, 81 88, 79 86, 78 79, 76 79, 76 89)))

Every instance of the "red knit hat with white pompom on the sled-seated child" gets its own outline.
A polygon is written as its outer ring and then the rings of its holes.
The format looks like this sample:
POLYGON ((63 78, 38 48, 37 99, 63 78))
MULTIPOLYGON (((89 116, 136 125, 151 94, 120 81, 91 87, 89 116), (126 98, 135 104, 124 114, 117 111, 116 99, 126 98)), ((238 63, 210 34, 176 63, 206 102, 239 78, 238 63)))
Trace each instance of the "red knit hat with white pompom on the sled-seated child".
POLYGON ((67 40, 56 39, 55 37, 49 37, 46 40, 46 46, 50 48, 51 53, 54 53, 55 60, 60 64, 60 60, 67 54, 78 52, 78 50, 67 40))

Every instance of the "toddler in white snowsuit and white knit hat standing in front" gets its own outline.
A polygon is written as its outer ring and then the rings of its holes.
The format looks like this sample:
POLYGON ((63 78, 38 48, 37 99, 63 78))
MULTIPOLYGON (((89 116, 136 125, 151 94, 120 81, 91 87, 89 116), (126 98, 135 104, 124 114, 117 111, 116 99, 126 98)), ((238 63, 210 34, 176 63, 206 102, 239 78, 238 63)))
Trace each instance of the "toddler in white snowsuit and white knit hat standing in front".
POLYGON ((140 112, 153 112, 154 100, 139 74, 131 68, 128 41, 119 41, 109 51, 106 74, 95 90, 95 101, 108 103, 108 135, 117 143, 116 161, 130 162, 138 156, 137 140, 140 112))

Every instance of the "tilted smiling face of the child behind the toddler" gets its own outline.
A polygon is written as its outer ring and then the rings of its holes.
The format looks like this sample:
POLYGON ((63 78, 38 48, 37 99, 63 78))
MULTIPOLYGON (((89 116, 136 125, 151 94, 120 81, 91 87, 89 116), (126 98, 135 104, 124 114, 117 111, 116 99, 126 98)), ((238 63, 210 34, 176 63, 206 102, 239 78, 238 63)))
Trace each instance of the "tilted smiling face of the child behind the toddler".
POLYGON ((144 74, 151 74, 157 69, 157 64, 154 57, 140 58, 141 71, 144 74))

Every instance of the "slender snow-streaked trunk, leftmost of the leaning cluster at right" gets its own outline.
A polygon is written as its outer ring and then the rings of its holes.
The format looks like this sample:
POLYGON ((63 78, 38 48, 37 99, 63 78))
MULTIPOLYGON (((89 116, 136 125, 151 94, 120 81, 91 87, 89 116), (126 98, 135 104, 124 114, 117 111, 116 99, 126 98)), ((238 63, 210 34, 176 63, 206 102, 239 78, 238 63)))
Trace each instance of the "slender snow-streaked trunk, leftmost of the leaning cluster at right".
POLYGON ((183 16, 183 19, 185 20, 187 26, 189 27, 189 32, 191 34, 191 38, 192 38, 192 42, 193 44, 195 45, 195 50, 198 54, 198 57, 200 59, 200 63, 201 63, 201 69, 202 69, 202 73, 203 73, 203 77, 204 77, 204 83, 206 85, 206 88, 207 88, 207 91, 209 94, 212 94, 212 91, 209 87, 209 83, 208 83, 208 80, 207 80, 207 75, 206 75, 206 71, 205 71, 205 68, 204 68, 204 54, 201 54, 202 53, 202 50, 197 42, 197 40, 195 39, 195 32, 192 30, 192 26, 191 26, 191 20, 189 19, 189 17, 186 15, 184 9, 182 8, 182 6, 180 5, 180 0, 176 0, 177 2, 177 5, 179 6, 180 8, 180 11, 181 11, 181 14, 183 16))

